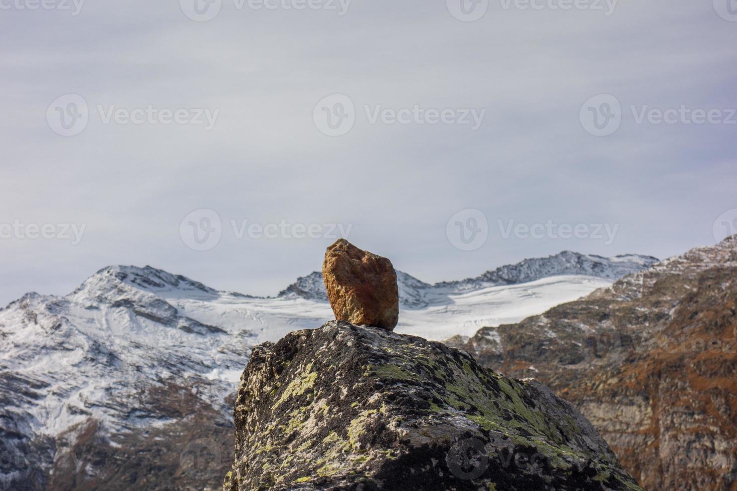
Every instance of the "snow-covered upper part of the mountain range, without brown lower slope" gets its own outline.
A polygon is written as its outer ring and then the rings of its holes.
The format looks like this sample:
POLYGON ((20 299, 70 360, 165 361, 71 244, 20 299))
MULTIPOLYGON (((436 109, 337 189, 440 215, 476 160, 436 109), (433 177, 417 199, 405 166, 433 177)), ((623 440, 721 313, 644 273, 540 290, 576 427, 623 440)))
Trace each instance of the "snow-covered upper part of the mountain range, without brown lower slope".
MULTIPOLYGON (((619 269, 581 261, 574 269, 587 275, 511 285, 476 279, 430 285, 397 272, 396 331, 441 340, 518 322, 609 286, 611 276, 638 267, 638 258, 622 259, 619 269)), ((517 278, 570 270, 532 264, 517 278)), ((58 453, 60 436, 90 420, 111 442, 175 422, 150 409, 172 384, 229 420, 226 398, 251 347, 332 318, 318 272, 276 298, 221 292, 150 266, 108 266, 64 296, 26 294, 0 310, 0 455, 25 462, 31 448, 40 448, 33 465, 48 468, 57 459, 48 448, 58 453)), ((0 468, 0 488, 28 468, 0 468)))

